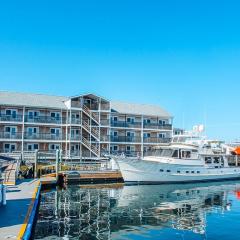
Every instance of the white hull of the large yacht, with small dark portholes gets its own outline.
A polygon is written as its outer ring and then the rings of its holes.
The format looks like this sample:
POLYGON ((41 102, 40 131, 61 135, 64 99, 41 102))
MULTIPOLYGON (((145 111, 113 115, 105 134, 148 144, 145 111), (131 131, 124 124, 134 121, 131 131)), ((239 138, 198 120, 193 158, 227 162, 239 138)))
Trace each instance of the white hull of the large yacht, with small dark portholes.
POLYGON ((209 168, 128 158, 119 158, 117 162, 127 183, 189 183, 240 179, 239 167, 209 168))

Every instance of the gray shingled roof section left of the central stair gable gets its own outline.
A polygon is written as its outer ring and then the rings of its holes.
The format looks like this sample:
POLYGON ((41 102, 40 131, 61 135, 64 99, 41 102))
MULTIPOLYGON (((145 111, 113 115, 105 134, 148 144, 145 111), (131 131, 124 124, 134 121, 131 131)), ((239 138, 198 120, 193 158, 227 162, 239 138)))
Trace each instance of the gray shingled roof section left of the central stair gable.
POLYGON ((64 109, 64 101, 68 99, 61 96, 0 91, 0 105, 64 109))

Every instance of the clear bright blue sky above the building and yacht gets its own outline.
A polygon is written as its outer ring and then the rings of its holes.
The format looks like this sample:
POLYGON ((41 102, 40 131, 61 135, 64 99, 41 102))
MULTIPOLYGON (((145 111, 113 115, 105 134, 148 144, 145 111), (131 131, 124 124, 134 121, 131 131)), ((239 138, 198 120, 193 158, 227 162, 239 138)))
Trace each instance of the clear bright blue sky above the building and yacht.
POLYGON ((159 104, 240 138, 240 2, 0 1, 0 89, 159 104))

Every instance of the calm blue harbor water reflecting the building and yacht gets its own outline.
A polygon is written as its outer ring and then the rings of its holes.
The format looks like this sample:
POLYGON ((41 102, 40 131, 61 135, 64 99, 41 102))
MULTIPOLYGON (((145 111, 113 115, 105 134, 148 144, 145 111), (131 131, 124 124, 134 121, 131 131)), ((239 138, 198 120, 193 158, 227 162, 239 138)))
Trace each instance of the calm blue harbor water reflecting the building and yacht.
POLYGON ((46 192, 35 239, 239 240, 240 182, 46 192))

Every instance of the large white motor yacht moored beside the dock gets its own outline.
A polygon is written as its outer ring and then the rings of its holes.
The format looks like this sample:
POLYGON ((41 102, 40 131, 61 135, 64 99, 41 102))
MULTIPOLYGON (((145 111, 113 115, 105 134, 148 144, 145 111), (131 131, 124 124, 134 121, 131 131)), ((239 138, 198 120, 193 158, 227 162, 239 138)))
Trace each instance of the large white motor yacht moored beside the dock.
POLYGON ((176 136, 143 158, 114 157, 126 183, 188 183, 240 179, 240 158, 219 141, 176 136))

